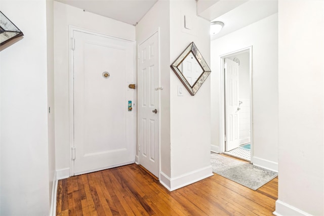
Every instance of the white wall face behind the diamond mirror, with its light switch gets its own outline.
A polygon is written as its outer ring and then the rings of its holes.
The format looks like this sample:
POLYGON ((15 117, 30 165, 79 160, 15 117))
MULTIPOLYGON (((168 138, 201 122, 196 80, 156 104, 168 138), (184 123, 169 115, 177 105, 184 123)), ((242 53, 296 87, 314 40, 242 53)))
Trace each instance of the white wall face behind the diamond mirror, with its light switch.
MULTIPOLYGON (((193 41, 210 65, 210 22, 196 16, 196 1, 170 1, 171 65, 193 41), (191 18, 192 30, 184 28, 184 16, 191 18)), ((176 74, 170 71, 171 188, 178 188, 212 175, 210 168, 211 110, 210 77, 191 96, 176 74)))

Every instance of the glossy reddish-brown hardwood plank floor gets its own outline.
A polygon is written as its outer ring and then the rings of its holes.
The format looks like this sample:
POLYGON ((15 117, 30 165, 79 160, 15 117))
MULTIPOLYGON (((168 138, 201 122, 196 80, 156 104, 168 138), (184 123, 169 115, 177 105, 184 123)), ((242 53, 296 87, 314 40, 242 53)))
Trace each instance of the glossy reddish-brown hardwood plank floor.
POLYGON ((56 215, 272 215, 278 179, 253 191, 217 174, 168 191, 131 164, 59 180, 56 215))

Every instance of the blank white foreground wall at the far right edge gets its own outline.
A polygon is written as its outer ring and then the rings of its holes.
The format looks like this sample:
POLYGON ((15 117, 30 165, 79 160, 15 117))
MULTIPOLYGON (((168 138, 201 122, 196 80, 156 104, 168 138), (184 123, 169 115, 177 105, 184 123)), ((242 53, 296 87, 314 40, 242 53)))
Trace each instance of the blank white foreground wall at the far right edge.
POLYGON ((324 215, 324 2, 279 1, 278 6, 275 214, 324 215))

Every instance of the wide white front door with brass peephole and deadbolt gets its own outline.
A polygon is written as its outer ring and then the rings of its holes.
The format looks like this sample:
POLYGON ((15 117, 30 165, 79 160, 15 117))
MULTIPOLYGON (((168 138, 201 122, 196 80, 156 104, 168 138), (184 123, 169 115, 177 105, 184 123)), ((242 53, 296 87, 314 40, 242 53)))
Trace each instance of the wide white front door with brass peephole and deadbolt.
MULTIPOLYGON (((74 175, 135 161, 135 43, 73 30, 74 175)), ((72 40, 73 41, 73 40, 72 40)), ((73 149, 73 148, 72 148, 73 149)), ((73 159, 72 158, 72 159, 73 159)))

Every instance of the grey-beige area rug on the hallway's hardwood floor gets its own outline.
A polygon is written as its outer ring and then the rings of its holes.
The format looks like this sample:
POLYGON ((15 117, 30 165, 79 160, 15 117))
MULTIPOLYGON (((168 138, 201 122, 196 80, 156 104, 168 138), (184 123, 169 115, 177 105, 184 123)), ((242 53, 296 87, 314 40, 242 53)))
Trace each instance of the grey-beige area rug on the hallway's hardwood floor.
POLYGON ((213 172, 240 185, 257 190, 278 176, 278 173, 248 162, 211 153, 213 172))

